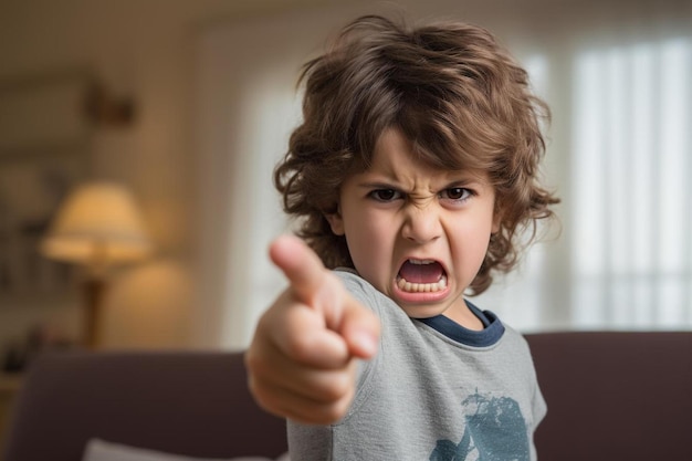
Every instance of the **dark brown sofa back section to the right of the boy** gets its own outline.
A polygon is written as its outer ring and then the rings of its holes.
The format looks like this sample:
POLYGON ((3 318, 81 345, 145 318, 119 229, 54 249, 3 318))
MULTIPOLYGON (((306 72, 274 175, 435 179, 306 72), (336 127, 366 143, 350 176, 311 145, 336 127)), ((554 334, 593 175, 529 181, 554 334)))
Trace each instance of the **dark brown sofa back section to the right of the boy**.
POLYGON ((527 335, 542 461, 692 460, 692 332, 527 335))

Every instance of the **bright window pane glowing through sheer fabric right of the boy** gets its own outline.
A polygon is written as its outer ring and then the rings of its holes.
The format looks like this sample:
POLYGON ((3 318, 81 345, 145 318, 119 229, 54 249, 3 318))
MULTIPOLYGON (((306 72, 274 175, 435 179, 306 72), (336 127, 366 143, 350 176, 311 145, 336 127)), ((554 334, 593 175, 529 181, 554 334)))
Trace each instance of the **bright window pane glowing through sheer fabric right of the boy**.
POLYGON ((684 39, 576 56, 577 327, 692 325, 691 63, 684 39))

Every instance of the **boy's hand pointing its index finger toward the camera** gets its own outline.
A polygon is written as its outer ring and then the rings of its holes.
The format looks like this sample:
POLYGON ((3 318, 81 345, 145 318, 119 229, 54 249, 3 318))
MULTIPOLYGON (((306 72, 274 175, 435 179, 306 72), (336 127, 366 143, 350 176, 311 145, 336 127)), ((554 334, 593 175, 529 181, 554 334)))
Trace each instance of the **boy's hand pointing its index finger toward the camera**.
POLYGON ((379 321, 300 239, 280 237, 270 256, 290 286, 262 315, 245 353, 250 390, 274 415, 335 422, 353 400, 356 359, 377 352, 379 321))

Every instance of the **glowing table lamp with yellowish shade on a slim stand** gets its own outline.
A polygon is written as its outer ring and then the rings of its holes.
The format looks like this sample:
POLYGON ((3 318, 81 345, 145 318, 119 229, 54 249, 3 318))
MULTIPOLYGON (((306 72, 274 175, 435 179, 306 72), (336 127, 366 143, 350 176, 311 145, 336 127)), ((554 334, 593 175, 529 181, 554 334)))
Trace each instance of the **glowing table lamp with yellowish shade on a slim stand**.
POLYGON ((151 243, 138 207, 127 188, 94 181, 75 188, 55 214, 41 243, 51 259, 86 269, 84 344, 99 345, 101 308, 107 270, 147 256, 151 243))

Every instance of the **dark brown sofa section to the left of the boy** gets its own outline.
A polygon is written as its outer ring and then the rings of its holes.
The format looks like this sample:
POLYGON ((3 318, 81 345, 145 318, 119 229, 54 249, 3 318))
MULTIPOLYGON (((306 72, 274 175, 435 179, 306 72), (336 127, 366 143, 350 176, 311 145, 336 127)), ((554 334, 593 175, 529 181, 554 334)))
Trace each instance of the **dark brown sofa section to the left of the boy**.
POLYGON ((286 451, 284 421, 255 406, 230 353, 45 354, 8 436, 4 461, 80 461, 94 438, 200 458, 286 451))

